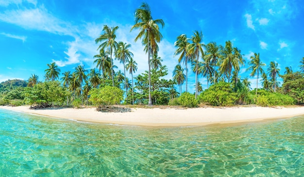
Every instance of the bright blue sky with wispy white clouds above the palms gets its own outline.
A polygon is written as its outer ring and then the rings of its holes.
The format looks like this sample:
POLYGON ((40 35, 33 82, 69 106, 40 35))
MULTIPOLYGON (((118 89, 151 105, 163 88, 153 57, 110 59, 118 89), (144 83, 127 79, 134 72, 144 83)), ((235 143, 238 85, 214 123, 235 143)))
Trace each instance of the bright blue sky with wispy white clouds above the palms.
MULTIPOLYGON (((44 80, 47 64, 56 62, 61 72, 74 71, 84 64, 94 68, 93 56, 98 54, 95 38, 102 26, 118 26, 117 41, 132 45, 138 64, 137 76, 148 69, 147 55, 141 42, 134 42, 137 31, 134 11, 141 0, 0 0, 0 81, 28 80, 31 74, 44 80)), ((269 64, 276 61, 283 74, 286 66, 298 71, 304 57, 304 0, 147 0, 154 19, 161 18, 163 40, 158 55, 172 78, 174 42, 178 35, 190 37, 202 31, 205 44, 215 41, 224 45, 231 40, 246 61, 254 52, 269 64)), ((123 70, 122 65, 115 64, 123 70)), ((241 76, 249 76, 244 66, 241 76)), ((267 67, 264 68, 267 70, 267 67)), ((127 74, 131 78, 131 75, 127 74)), ((206 80, 199 79, 206 88, 206 80)), ((252 88, 255 79, 251 78, 252 88)), ((194 74, 189 72, 189 86, 194 74)), ((191 88, 193 89, 193 88, 191 88)), ((193 91, 191 90, 190 91, 193 91)), ((185 85, 183 86, 185 90, 185 85)))

